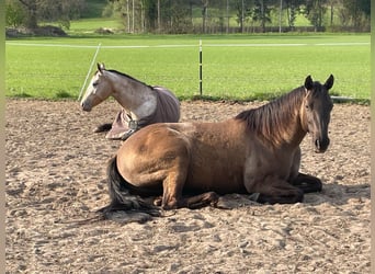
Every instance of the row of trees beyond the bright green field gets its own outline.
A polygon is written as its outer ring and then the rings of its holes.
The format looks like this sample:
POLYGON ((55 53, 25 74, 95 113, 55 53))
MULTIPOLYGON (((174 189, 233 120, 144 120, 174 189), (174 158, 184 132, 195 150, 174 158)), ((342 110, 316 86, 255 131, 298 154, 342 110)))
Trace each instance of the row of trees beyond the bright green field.
MULTIPOLYGON (((69 28, 89 7, 90 0, 5 0, 5 21, 69 28)), ((121 21, 128 33, 287 32, 297 30, 298 16, 310 31, 361 32, 370 31, 371 0, 106 0, 102 16, 121 21)))

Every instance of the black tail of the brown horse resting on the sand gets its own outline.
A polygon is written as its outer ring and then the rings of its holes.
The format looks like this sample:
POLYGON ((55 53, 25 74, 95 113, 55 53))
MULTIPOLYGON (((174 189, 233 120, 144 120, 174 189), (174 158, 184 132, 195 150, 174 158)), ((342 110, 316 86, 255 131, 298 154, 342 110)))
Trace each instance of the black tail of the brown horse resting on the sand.
POLYGON ((130 184, 120 174, 116 160, 117 156, 113 157, 106 169, 111 203, 98 212, 102 213, 105 219, 111 219, 114 212, 145 213, 151 216, 160 216, 157 207, 129 193, 130 184))

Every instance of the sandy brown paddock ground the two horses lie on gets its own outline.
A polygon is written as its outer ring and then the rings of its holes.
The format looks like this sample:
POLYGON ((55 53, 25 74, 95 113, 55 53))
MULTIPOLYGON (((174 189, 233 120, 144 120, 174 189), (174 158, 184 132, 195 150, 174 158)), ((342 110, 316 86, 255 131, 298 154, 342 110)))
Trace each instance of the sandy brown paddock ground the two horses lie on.
MULTIPOLYGON (((181 121, 221 121, 261 103, 182 102, 181 121)), ((323 191, 294 205, 226 195, 232 209, 179 209, 146 224, 79 224, 109 203, 121 141, 78 102, 7 101, 7 273, 370 273, 370 106, 336 104, 323 155, 304 140, 302 171, 323 191)))

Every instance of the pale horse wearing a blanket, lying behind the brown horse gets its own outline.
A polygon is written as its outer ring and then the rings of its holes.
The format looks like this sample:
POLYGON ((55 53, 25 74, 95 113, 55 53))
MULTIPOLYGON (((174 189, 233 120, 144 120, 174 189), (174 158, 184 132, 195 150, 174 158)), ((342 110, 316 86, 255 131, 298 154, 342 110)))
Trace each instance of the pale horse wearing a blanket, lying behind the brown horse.
POLYGON ((90 112, 111 95, 123 110, 112 125, 104 124, 95 129, 111 129, 107 139, 126 139, 146 125, 180 119, 180 102, 172 92, 162 87, 145 84, 116 70, 106 70, 103 64, 98 64, 98 71, 81 100, 81 107, 90 112))

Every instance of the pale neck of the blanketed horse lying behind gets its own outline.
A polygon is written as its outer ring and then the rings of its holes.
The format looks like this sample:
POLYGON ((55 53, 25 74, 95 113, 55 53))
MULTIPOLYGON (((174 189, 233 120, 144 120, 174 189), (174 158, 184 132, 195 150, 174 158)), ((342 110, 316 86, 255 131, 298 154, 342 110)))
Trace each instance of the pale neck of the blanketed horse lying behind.
POLYGON ((111 73, 113 98, 124 107, 133 119, 151 115, 156 110, 157 99, 154 90, 137 80, 111 73))

